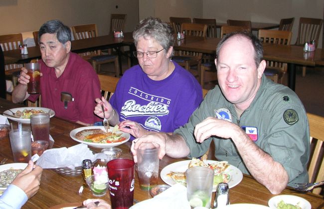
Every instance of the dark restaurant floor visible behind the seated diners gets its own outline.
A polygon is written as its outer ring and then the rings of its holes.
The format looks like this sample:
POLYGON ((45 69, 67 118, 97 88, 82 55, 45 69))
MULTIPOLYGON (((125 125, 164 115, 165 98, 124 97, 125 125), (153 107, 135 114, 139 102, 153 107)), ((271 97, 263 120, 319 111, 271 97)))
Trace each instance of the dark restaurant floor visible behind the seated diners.
MULTIPOLYGON (((127 60, 122 59, 123 72, 128 69, 127 60)), ((104 64, 100 74, 114 76, 114 65, 104 64)), ((287 76, 284 84, 287 84, 287 76)), ((211 89, 215 83, 204 85, 205 89, 211 89)), ((296 74, 296 93, 303 102, 306 111, 324 116, 324 68, 307 68, 306 77, 302 77, 302 68, 297 69, 296 74)))

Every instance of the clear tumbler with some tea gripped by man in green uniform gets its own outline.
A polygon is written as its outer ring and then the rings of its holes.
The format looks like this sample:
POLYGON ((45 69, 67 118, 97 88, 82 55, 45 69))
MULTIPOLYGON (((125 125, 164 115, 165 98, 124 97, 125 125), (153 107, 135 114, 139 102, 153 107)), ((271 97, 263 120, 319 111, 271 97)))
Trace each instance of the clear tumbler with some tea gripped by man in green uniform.
POLYGON ((160 145, 142 143, 137 150, 137 171, 140 187, 144 191, 158 185, 160 145))

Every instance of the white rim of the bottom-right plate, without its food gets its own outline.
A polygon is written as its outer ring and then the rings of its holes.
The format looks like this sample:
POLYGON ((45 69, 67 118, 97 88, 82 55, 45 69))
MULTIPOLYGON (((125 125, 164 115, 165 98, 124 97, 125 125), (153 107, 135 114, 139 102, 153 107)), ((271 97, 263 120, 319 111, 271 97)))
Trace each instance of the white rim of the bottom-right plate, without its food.
POLYGON ((312 206, 307 200, 294 195, 278 195, 271 198, 268 205, 271 209, 277 209, 277 205, 280 201, 284 201, 286 204, 298 205, 302 209, 311 209, 312 206))

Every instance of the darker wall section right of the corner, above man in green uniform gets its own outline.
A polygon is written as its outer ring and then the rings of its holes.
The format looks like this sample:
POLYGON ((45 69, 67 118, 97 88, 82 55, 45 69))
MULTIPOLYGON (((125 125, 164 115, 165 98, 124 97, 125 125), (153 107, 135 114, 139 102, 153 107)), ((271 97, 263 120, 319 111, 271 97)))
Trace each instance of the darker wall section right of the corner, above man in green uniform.
MULTIPOLYGON (((202 0, 203 17, 216 18, 216 23, 227 19, 252 22, 279 23, 282 18, 295 17, 291 44, 295 44, 299 18, 323 18, 324 0, 202 0)), ((323 30, 323 29, 322 29, 323 30)), ((322 48, 322 32, 319 47, 322 48)))

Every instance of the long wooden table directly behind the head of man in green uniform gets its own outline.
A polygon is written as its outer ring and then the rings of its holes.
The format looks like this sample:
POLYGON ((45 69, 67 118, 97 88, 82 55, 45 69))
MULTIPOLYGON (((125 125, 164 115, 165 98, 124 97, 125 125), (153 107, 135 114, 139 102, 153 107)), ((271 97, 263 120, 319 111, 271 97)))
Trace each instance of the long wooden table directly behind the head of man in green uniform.
MULTIPOLYGON (((219 38, 202 38, 186 36, 176 41, 175 50, 216 54, 219 38)), ((314 52, 304 52, 302 46, 264 44, 263 59, 288 63, 288 87, 295 91, 296 66, 324 66, 324 50, 316 49, 314 52)))

